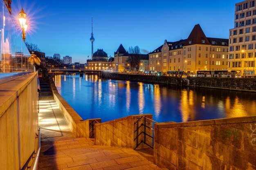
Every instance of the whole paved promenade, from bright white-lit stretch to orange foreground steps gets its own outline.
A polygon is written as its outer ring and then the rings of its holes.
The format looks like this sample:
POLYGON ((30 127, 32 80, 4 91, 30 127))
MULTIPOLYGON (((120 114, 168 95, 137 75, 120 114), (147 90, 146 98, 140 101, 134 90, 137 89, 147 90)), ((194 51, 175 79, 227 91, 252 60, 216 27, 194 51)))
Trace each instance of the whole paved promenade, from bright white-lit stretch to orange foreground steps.
POLYGON ((130 148, 97 146, 90 138, 74 138, 54 99, 39 101, 39 126, 38 170, 167 170, 152 162, 153 155, 130 148))

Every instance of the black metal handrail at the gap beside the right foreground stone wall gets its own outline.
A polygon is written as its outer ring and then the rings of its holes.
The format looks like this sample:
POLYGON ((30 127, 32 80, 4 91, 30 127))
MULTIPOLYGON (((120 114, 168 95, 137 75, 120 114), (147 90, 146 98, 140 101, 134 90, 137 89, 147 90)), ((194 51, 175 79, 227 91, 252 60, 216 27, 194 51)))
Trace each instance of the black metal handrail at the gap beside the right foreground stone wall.
MULTIPOLYGON (((147 146, 149 146, 150 148, 153 148, 153 146, 151 146, 150 144, 147 144, 147 143, 146 143, 146 136, 148 136, 148 137, 154 139, 153 136, 151 136, 151 135, 149 135, 149 134, 146 133, 146 128, 149 128, 150 130, 153 130, 153 131, 154 131, 153 128, 151 128, 151 127, 149 127, 149 126, 146 125, 146 120, 152 121, 152 122, 155 122, 155 123, 158 123, 157 121, 154 121, 154 120, 152 120, 152 119, 149 119, 148 117, 145 117, 145 116, 141 116, 140 118, 138 118, 138 120, 135 122, 135 124, 137 124, 137 128, 136 128, 136 130, 134 131, 134 132, 136 132, 136 138, 134 139, 134 140, 136 140, 136 147, 135 147, 135 149, 136 149, 141 143, 144 143, 144 144, 146 144, 147 146), (142 124, 139 126, 139 121, 141 121, 142 118, 144 118, 144 124, 142 123, 142 124), (140 128, 141 126, 144 126, 144 131, 139 133, 139 128, 140 128), (144 140, 141 140, 141 141, 139 142, 139 136, 140 136, 142 133, 144 134, 144 140)), ((153 143, 152 143, 152 144, 153 144, 153 143)))

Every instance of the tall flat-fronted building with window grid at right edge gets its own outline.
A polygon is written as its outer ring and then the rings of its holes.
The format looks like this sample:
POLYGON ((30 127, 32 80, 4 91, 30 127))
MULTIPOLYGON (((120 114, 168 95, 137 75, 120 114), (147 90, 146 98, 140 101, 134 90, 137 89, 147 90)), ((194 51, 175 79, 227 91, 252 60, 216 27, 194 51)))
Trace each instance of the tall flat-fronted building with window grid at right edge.
POLYGON ((241 75, 255 75, 256 7, 255 0, 235 7, 234 29, 229 30, 229 65, 241 75))

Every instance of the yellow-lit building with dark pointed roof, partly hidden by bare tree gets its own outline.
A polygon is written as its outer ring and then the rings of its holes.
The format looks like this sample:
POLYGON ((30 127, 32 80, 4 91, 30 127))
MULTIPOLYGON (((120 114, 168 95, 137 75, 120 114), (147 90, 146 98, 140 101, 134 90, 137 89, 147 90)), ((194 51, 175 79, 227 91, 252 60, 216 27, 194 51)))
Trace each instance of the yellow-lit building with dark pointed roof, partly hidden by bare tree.
MULTIPOLYGON (((120 44, 119 48, 115 52, 115 69, 118 72, 130 70, 130 64, 127 62, 128 58, 133 55, 128 53, 124 49, 124 46, 120 44)), ((149 69, 148 54, 139 54, 139 71, 145 71, 149 69)))

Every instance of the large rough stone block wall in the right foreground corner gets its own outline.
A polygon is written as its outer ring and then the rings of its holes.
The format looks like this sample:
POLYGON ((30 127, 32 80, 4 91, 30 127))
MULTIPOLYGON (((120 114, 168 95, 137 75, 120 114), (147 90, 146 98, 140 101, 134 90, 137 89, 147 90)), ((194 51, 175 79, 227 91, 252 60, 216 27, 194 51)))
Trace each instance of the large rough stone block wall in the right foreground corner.
POLYGON ((255 170, 256 116, 155 124, 154 158, 170 170, 255 170))

